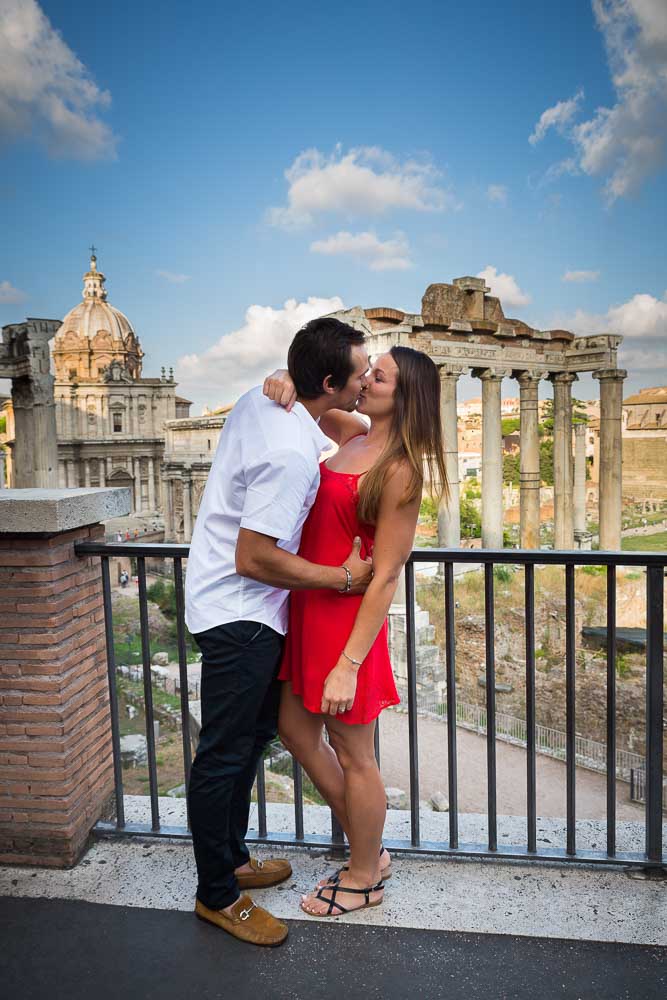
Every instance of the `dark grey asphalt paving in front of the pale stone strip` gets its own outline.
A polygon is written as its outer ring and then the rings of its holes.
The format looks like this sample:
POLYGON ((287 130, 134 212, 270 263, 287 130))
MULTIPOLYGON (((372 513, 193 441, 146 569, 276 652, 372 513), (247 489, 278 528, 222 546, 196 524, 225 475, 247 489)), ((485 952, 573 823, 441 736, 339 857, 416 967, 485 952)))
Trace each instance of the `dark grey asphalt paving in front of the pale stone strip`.
POLYGON ((658 1000, 664 952, 610 945, 290 921, 279 949, 188 913, 0 899, 6 1000, 658 1000))

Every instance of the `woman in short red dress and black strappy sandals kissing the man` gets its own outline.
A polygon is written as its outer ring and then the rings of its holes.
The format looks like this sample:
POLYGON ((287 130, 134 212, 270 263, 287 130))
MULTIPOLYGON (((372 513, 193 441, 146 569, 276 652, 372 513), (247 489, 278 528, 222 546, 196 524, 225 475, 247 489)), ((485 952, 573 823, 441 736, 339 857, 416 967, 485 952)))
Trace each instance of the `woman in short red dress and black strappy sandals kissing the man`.
MULTIPOLYGON (((266 380, 264 392, 283 405, 294 398, 282 372, 266 380)), ((340 564, 358 536, 361 555, 372 554, 373 579, 363 597, 292 593, 279 675, 285 681, 281 740, 331 806, 350 845, 349 864, 302 898, 302 909, 313 916, 382 902, 391 859, 382 848, 386 797, 375 760, 375 720, 399 702, 386 616, 412 550, 425 465, 430 483, 447 489, 440 380, 427 355, 392 347, 379 357, 357 411, 331 410, 320 421, 339 449, 320 465, 299 554, 340 564), (370 426, 359 414, 370 418, 370 426)))

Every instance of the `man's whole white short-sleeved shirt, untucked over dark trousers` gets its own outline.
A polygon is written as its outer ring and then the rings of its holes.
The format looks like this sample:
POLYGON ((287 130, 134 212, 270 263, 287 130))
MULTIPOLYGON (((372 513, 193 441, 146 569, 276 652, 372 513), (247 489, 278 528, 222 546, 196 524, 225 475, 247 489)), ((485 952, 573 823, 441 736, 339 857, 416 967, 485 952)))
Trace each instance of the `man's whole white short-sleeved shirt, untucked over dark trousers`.
POLYGON ((225 423, 190 543, 185 620, 191 632, 232 621, 287 631, 289 591, 236 572, 239 528, 296 552, 331 442, 301 403, 287 413, 262 393, 241 396, 225 423))

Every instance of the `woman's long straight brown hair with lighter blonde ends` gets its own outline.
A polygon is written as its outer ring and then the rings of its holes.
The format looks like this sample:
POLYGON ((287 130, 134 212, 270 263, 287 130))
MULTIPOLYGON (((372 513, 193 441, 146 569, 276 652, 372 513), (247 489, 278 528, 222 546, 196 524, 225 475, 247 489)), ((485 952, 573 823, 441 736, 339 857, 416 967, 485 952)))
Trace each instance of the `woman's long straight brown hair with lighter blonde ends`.
POLYGON ((421 497, 424 473, 434 499, 449 496, 440 425, 440 377, 427 354, 411 347, 389 351, 398 366, 394 413, 382 454, 363 477, 359 488, 359 520, 375 524, 388 474, 407 462, 411 477, 402 503, 421 497))

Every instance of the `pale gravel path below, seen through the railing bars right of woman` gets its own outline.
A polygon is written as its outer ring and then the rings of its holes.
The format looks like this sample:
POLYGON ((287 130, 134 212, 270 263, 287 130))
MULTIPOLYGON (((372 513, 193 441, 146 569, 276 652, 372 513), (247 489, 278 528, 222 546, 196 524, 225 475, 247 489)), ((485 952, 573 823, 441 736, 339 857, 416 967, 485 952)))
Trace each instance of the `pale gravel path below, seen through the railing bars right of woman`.
MULTIPOLYGON (((458 800, 460 812, 484 813, 487 808, 486 737, 456 731, 458 800)), ((447 726, 419 718, 419 796, 429 799, 436 791, 447 794, 447 726)), ((410 788, 408 717, 383 712, 380 718, 380 761, 385 785, 410 788)), ((538 816, 566 814, 565 763, 537 755, 538 816)), ((496 741, 497 809, 499 815, 526 815, 526 752, 522 747, 496 741)), ((602 773, 577 768, 577 819, 606 819, 606 779, 602 773)), ((619 820, 643 822, 644 807, 629 801, 630 786, 617 783, 616 815, 619 820)))

